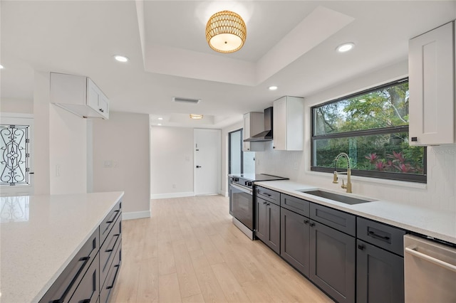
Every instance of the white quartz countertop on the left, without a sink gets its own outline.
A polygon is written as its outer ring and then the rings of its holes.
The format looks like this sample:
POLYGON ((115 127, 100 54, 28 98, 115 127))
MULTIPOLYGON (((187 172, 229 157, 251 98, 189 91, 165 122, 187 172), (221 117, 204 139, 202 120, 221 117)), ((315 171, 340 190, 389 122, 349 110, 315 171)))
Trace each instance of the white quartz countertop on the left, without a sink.
POLYGON ((122 197, 1 197, 0 301, 38 302, 122 197))

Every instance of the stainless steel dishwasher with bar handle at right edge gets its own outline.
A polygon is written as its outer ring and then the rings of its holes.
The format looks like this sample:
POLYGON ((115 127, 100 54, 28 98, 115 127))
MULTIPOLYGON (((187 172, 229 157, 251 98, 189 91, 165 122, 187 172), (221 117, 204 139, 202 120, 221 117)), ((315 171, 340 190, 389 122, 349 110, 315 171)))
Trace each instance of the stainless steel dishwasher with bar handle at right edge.
POLYGON ((404 235, 405 302, 456 302, 456 247, 404 235))

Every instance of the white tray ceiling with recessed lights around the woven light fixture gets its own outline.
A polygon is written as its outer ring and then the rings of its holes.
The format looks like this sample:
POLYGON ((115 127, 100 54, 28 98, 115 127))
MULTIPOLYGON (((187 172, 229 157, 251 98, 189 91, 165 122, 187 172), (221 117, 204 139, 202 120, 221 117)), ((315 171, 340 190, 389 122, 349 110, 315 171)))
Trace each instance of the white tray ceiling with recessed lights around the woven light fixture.
POLYGON ((306 97, 406 60, 408 40, 456 18, 456 1, 4 1, 1 98, 33 99, 33 70, 86 75, 114 111, 154 123, 224 127, 283 95, 306 97), (247 23, 237 53, 214 52, 205 23, 247 23), (336 53, 341 43, 356 44, 336 53), (113 55, 128 56, 118 63, 113 55), (267 90, 269 85, 279 90, 267 90), (172 97, 202 99, 197 105, 172 97), (188 114, 203 114, 194 121, 188 114))

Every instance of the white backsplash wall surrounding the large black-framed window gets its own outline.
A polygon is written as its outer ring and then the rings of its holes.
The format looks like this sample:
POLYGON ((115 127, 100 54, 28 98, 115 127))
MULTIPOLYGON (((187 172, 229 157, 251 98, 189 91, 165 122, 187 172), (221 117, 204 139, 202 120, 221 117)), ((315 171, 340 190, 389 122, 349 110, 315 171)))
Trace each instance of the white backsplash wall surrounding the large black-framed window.
MULTIPOLYGON (((269 144, 266 151, 257 152, 257 172, 287 176, 294 181, 343 191, 340 184, 332 184, 332 174, 310 171, 311 110, 310 107, 336 99, 368 87, 388 83, 408 75, 407 61, 376 70, 368 75, 341 83, 336 87, 304 99, 304 151, 274 151, 269 144), (296 169, 297 167, 297 169, 296 169)), ((353 193, 382 198, 400 203, 435 209, 456 210, 456 145, 427 147, 427 184, 383 181, 353 177, 353 193)))

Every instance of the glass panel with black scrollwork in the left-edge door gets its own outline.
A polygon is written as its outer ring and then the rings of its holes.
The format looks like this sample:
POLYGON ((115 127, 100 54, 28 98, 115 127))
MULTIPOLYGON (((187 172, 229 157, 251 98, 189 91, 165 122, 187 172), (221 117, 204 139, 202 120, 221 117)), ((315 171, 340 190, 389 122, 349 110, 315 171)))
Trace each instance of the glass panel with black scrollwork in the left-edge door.
POLYGON ((0 125, 0 186, 29 185, 28 125, 0 125))

